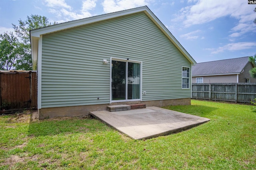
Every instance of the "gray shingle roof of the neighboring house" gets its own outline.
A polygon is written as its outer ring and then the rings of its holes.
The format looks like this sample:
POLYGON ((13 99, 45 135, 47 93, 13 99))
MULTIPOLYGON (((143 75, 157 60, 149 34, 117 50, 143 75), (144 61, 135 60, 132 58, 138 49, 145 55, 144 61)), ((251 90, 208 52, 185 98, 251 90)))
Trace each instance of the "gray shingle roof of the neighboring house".
POLYGON ((240 57, 197 63, 192 66, 192 76, 239 74, 248 62, 249 57, 240 57))

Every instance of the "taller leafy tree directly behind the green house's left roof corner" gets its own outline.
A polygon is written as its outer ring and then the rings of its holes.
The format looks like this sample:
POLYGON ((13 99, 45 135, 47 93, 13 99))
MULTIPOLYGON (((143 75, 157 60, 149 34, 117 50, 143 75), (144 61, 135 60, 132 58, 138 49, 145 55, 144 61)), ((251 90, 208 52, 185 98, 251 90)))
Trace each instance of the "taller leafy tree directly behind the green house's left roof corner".
POLYGON ((27 16, 26 21, 18 20, 19 25, 12 26, 18 38, 22 41, 22 47, 24 49, 22 56, 17 59, 14 66, 17 70, 32 70, 32 56, 30 47, 30 33, 31 29, 38 29, 49 25, 54 25, 56 22, 51 23, 45 16, 31 15, 27 16))

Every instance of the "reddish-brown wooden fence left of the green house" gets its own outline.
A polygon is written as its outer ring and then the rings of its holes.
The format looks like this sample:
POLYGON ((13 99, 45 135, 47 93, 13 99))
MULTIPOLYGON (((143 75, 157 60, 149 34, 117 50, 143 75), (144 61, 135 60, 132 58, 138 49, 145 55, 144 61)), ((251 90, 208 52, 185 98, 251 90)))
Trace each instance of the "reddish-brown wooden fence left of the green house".
POLYGON ((37 108, 37 78, 34 71, 0 71, 0 113, 37 108))

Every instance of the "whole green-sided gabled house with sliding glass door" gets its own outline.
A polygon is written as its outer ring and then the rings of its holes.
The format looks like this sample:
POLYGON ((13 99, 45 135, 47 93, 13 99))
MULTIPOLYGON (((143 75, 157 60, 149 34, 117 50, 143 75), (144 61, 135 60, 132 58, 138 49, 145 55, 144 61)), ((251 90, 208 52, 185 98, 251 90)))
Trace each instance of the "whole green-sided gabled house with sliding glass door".
POLYGON ((30 31, 39 118, 186 105, 194 59, 147 6, 30 31))

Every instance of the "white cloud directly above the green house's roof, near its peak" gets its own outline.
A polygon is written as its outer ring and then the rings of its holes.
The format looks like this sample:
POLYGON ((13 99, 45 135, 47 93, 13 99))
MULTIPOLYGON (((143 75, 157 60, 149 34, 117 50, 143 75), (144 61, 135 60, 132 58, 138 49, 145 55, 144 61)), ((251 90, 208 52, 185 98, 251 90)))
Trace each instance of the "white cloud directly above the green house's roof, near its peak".
POLYGON ((145 6, 153 1, 154 0, 104 0, 102 6, 104 12, 110 13, 145 6))

